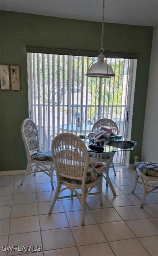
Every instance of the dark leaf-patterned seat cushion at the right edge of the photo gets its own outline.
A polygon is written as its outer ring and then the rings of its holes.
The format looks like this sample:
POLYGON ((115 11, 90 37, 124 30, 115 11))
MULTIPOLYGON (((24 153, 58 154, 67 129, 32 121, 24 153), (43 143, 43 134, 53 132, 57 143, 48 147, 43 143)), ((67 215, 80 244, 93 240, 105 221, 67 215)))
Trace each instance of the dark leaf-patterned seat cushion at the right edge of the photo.
POLYGON ((138 162, 136 167, 146 176, 157 177, 157 163, 153 162, 138 162))

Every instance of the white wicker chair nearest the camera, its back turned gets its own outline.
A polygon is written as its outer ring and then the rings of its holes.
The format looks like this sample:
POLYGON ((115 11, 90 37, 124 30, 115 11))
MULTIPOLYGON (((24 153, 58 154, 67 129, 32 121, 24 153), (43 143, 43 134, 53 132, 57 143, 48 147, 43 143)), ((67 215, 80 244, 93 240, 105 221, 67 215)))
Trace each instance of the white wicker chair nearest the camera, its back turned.
POLYGON ((99 201, 102 205, 102 171, 89 167, 89 153, 84 142, 74 134, 61 133, 52 142, 52 155, 57 175, 57 189, 49 210, 52 213, 57 199, 77 196, 81 203, 81 224, 84 225, 85 200, 89 192, 98 187, 99 201), (61 189, 61 186, 65 187, 61 189), (59 197, 66 189, 71 190, 70 196, 59 197), (77 191, 81 189, 81 194, 77 191), (73 193, 75 192, 75 195, 73 193))

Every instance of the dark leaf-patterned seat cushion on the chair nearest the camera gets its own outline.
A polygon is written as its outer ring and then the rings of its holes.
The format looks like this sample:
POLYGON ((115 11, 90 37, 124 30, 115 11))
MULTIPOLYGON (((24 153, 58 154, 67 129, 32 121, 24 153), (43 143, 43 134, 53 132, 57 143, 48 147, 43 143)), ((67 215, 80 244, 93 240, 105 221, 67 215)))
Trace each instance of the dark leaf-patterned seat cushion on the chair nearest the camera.
MULTIPOLYGON (((92 167, 89 167, 89 169, 87 171, 85 183, 86 184, 92 183, 92 182, 96 181, 98 178, 100 178, 101 176, 102 176, 102 171, 94 170, 92 167)), ((62 180, 72 183, 72 184, 77 184, 77 185, 82 184, 81 180, 74 180, 74 179, 69 179, 66 177, 62 177, 62 180)))

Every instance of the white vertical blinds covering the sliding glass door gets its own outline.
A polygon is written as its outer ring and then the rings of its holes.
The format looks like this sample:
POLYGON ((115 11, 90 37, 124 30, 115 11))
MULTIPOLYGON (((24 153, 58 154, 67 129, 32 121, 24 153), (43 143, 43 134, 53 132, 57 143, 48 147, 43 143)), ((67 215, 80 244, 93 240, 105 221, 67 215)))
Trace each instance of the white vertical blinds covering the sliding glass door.
MULTIPOLYGON (((86 77, 94 59, 27 53, 30 117, 38 127, 43 150, 51 149, 57 134, 90 132, 101 118, 112 119, 119 133, 125 134, 132 60, 108 58, 114 78, 86 77)), ((123 153, 116 158, 115 162, 122 163, 123 153)))

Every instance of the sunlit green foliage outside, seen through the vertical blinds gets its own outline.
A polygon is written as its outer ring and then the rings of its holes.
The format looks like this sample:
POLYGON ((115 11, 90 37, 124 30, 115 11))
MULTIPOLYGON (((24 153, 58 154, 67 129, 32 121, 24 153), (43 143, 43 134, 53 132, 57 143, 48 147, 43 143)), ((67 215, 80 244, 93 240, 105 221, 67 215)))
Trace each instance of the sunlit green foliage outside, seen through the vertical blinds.
MULTIPOLYGON (((33 55, 32 55, 33 56, 33 55)), ((99 78, 87 78, 85 76, 87 72, 87 67, 96 58, 94 57, 78 57, 78 56, 62 56, 62 55, 47 55, 39 54, 39 67, 37 66, 37 54, 35 56, 35 76, 36 79, 36 99, 38 99, 37 83, 40 83, 40 99, 41 104, 43 104, 43 94, 45 94, 45 103, 48 104, 49 90, 50 90, 50 104, 53 104, 53 97, 55 97, 55 104, 58 102, 58 88, 60 88, 60 104, 63 104, 63 93, 65 96, 65 105, 67 105, 67 93, 68 84, 70 81, 70 90, 72 92, 74 87, 74 92, 77 95, 81 94, 81 84, 84 83, 84 93, 86 91, 86 83, 88 83, 88 105, 93 105, 91 108, 88 107, 88 117, 90 121, 94 121, 97 118, 98 104, 99 104, 99 78), (44 63, 45 59, 45 63, 44 63), (49 62, 49 68, 48 68, 49 62), (43 67, 44 63, 44 67, 43 67), (54 63, 54 66, 53 66, 54 63), (70 63, 70 65, 69 65, 70 63), (68 81, 68 65, 71 74, 71 79, 68 81), (43 69, 44 68, 44 69, 43 69), (84 75, 82 76, 82 70, 84 70, 84 75), (73 76, 74 71, 74 76, 73 76), (38 79, 39 74, 39 79, 38 79), (45 76, 43 77, 43 74, 45 76), (54 80, 53 80, 54 79, 54 80), (83 80, 82 80, 83 79, 83 80), (58 87, 58 80, 60 85, 58 87), (53 83, 54 81, 54 83, 53 83), (50 88, 49 88, 50 82, 50 88), (44 86, 44 89, 43 89, 44 86), (53 89, 54 88, 54 89, 53 89), (53 91, 55 93, 53 93, 53 91), (53 95, 54 94, 54 95, 53 95), (89 99, 90 98, 90 99, 89 99), (96 106, 96 107, 95 107, 96 106)), ((124 75, 124 59, 110 59, 111 65, 115 73, 114 78, 102 79, 101 89, 101 105, 102 116, 111 117, 120 115, 120 108, 108 107, 108 105, 121 105, 122 101, 122 87, 123 87, 123 75, 124 75), (103 113, 104 111, 104 113, 103 113), (113 112, 112 112, 113 111, 113 112), (117 112, 117 113, 116 113, 117 112)), ((83 95, 84 96, 84 95, 83 95)), ((71 96, 72 97, 72 96, 71 96)), ((81 96, 80 96, 81 97, 81 96)), ((77 96, 76 96, 77 98, 77 96)), ((71 100, 72 102, 72 100, 71 100)), ((77 102, 75 102, 77 104, 77 102)), ((79 102, 80 105, 80 102, 79 102)), ((65 113, 67 110, 65 109, 65 113)))

